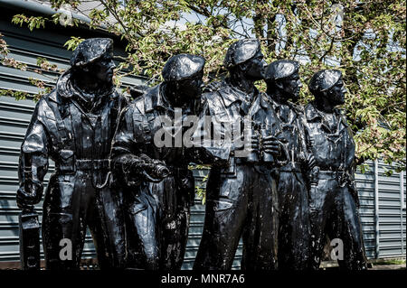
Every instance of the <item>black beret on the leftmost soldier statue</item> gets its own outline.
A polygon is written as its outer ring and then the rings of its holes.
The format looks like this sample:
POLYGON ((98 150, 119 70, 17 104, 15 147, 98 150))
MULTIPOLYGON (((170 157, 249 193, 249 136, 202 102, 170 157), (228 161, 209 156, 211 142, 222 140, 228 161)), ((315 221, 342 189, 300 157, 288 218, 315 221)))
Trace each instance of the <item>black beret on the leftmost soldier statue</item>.
POLYGON ((81 67, 98 60, 107 51, 113 50, 110 38, 90 38, 78 45, 71 57, 71 66, 81 67))

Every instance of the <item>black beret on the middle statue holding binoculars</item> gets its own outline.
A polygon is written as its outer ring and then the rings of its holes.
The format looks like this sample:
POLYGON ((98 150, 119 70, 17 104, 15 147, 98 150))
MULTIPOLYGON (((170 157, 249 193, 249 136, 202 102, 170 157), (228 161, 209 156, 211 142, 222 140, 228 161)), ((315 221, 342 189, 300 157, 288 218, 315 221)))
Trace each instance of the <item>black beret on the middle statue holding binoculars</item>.
POLYGON ((242 39, 233 42, 226 51, 223 64, 226 69, 239 65, 256 55, 260 51, 260 41, 257 39, 242 39))

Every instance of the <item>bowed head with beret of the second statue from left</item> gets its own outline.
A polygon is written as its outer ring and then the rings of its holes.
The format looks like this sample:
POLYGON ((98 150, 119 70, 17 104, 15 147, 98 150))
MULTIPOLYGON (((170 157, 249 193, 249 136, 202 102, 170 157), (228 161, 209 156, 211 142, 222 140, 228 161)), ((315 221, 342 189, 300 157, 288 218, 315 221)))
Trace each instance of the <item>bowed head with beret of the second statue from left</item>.
POLYGON ((176 98, 199 98, 204 85, 204 57, 178 54, 166 61, 162 71, 166 89, 176 98))

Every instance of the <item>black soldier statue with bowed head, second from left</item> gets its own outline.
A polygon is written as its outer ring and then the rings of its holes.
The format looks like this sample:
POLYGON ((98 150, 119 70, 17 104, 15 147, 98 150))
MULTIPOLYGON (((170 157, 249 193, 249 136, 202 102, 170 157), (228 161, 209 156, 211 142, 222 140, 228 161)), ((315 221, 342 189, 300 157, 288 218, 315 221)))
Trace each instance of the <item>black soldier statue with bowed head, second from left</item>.
POLYGON ((188 170, 191 150, 175 144, 159 147, 155 135, 162 129, 163 117, 175 118, 175 108, 182 108, 183 117, 194 115, 204 63, 200 56, 173 56, 162 71, 164 82, 135 99, 121 116, 112 166, 128 186, 125 202, 131 267, 175 270, 183 264, 194 203, 194 177, 188 170))

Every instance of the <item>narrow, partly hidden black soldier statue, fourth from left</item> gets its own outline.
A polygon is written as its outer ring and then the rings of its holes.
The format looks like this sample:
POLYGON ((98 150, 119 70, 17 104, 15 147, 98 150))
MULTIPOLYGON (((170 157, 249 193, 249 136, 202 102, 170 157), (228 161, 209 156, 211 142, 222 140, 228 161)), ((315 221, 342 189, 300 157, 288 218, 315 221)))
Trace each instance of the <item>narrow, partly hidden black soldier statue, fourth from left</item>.
POLYGON ((313 164, 313 157, 311 153, 306 157, 304 111, 294 104, 302 87, 298 69, 298 61, 276 60, 265 78, 271 107, 279 118, 279 137, 289 151, 289 163, 279 168, 279 270, 308 268, 308 190, 302 172, 313 164))

